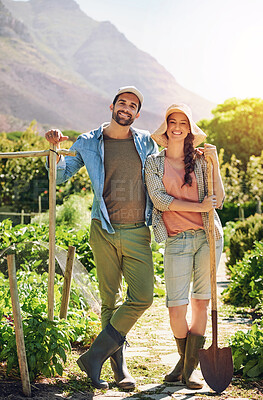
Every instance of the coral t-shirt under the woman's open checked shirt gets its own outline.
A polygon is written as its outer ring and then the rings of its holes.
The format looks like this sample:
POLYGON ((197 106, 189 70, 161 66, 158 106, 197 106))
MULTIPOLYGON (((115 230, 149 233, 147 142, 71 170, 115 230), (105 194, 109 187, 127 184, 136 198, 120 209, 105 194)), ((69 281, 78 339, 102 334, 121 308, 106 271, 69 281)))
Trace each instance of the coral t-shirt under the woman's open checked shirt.
MULTIPOLYGON (((195 173, 191 173, 192 186, 182 186, 184 183, 184 175, 184 169, 180 171, 174 169, 169 164, 167 158, 165 159, 163 184, 166 192, 178 200, 198 202, 198 187, 195 173)), ((168 236, 175 236, 178 233, 189 229, 204 229, 202 215, 200 212, 164 211, 162 218, 166 226, 168 236)))

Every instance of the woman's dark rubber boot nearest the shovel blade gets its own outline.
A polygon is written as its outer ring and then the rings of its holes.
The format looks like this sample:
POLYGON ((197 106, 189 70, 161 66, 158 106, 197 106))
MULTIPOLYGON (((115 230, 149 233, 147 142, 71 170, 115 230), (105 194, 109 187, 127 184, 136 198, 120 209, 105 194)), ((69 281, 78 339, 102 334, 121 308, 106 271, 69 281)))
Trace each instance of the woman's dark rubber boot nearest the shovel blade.
POLYGON ((183 383, 189 389, 202 389, 203 383, 196 376, 195 369, 199 363, 199 349, 205 344, 205 337, 189 333, 186 340, 183 383))

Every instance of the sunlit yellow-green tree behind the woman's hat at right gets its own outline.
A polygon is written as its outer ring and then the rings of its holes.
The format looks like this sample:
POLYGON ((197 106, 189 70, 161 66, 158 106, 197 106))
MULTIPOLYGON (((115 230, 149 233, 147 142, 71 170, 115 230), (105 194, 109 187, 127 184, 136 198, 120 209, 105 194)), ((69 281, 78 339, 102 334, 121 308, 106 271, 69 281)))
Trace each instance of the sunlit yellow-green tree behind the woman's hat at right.
POLYGON ((225 150, 225 161, 235 154, 246 170, 249 157, 260 156, 263 148, 263 99, 228 99, 213 111, 211 120, 198 125, 208 135, 208 141, 225 150))

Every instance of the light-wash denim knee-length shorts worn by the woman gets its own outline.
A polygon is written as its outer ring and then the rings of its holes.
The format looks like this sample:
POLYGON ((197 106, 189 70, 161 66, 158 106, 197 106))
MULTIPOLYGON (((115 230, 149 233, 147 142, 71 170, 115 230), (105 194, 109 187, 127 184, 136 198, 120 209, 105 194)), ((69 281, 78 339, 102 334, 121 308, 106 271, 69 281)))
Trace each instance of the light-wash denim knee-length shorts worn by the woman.
MULTIPOLYGON (((216 266, 223 250, 223 239, 216 241, 216 266)), ((188 230, 170 236, 164 252, 166 305, 175 307, 189 303, 189 291, 194 299, 211 298, 210 250, 203 229, 188 230)))

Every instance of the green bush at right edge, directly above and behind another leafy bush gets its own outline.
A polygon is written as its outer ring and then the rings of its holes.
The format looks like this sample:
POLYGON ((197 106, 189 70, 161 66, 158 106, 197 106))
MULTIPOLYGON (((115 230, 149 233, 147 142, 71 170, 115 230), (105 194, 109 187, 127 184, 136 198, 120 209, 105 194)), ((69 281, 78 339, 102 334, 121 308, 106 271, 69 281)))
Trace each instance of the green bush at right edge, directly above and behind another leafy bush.
POLYGON ((246 251, 251 250, 255 241, 263 238, 263 215, 255 214, 244 221, 238 221, 229 241, 227 265, 242 260, 246 251))

